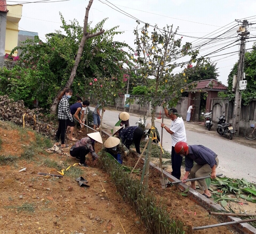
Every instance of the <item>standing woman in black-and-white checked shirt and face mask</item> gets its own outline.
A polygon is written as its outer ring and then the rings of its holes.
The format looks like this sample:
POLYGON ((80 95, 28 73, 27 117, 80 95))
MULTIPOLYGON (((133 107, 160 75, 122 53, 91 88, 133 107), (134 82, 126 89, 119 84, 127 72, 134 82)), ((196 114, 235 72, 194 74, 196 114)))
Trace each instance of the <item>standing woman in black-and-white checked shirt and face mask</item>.
POLYGON ((67 130, 67 124, 68 121, 72 122, 73 117, 70 113, 70 105, 69 105, 69 98, 71 98, 73 94, 73 90, 70 88, 67 88, 63 90, 58 97, 59 100, 59 106, 58 106, 58 120, 59 120, 59 127, 56 132, 55 141, 56 145, 59 145, 59 137, 61 140, 61 146, 62 148, 68 147, 67 144, 65 144, 65 134, 67 130))

